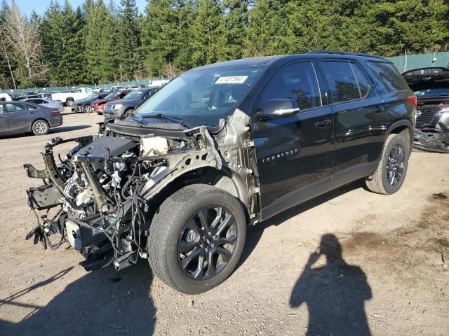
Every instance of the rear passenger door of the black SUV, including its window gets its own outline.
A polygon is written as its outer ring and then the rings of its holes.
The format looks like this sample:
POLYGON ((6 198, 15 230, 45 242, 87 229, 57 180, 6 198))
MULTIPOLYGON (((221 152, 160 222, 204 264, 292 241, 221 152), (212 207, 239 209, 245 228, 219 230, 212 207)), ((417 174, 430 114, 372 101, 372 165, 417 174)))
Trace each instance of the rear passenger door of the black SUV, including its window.
POLYGON ((335 188, 373 174, 389 118, 361 64, 349 60, 320 63, 334 113, 335 188))

